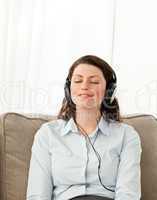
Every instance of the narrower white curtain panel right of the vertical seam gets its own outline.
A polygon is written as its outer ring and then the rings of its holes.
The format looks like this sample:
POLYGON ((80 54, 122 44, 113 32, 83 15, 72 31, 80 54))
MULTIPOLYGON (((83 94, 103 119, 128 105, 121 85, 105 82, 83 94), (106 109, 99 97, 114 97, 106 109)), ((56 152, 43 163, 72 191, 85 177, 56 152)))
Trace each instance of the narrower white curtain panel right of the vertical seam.
POLYGON ((157 116, 157 1, 119 0, 113 64, 122 113, 157 116))

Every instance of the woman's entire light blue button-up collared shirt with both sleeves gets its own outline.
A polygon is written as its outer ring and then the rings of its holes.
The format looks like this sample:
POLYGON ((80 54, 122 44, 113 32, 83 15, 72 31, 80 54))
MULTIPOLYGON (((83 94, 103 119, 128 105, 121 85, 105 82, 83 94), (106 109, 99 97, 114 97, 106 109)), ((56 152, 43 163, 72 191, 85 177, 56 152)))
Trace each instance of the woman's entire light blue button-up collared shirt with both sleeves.
POLYGON ((73 118, 57 119, 42 124, 34 137, 27 200, 69 200, 85 194, 140 199, 142 148, 136 130, 101 117, 89 137, 101 157, 102 183, 115 192, 100 184, 98 158, 73 118))

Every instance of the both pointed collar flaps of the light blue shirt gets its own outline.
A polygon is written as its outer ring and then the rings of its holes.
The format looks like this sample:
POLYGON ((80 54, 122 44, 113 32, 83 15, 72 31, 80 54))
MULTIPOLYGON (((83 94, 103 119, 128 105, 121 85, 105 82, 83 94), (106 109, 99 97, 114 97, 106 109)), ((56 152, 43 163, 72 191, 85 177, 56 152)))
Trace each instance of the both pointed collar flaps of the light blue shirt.
MULTIPOLYGON (((98 126, 97 126, 97 129, 99 128, 99 130, 104 135, 108 136, 109 132, 110 132, 109 127, 110 127, 110 124, 104 119, 103 116, 101 116, 100 121, 99 121, 98 126)), ((76 123, 75 123, 75 121, 72 117, 65 124, 61 135, 64 136, 64 135, 68 134, 69 132, 78 133, 78 128, 77 128, 76 123)))

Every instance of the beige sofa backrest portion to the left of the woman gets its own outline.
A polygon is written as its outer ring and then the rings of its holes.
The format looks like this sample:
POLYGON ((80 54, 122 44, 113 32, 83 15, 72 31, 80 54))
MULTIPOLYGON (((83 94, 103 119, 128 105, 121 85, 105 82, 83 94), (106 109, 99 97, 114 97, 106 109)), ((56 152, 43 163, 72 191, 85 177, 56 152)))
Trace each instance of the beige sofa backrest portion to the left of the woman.
POLYGON ((16 113, 1 116, 0 200, 25 200, 34 134, 51 118, 16 113))

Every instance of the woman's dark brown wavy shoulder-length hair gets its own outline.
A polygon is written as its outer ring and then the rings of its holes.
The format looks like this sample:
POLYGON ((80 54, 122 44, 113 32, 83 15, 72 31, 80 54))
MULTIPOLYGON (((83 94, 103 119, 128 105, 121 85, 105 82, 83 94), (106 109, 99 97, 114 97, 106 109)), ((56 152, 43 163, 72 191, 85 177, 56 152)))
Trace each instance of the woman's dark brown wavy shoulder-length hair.
MULTIPOLYGON (((89 64, 89 65, 94 65, 95 67, 99 68, 102 71, 104 78, 106 80, 106 90, 107 90, 108 85, 111 82, 114 71, 106 61, 94 55, 86 55, 86 56, 80 57, 78 60, 76 60, 72 64, 72 66, 69 69, 69 73, 67 77, 69 81, 71 81, 73 72, 79 64, 89 64)), ((110 105, 106 106, 104 103, 102 103, 100 112, 107 122, 110 122, 110 121, 122 122, 122 117, 120 115, 120 110, 119 110, 119 104, 116 97, 114 98, 112 104, 110 105)), ((57 115, 57 118, 69 120, 71 117, 73 117, 75 120, 75 114, 76 114, 75 104, 72 101, 71 101, 71 104, 69 104, 69 102, 67 101, 67 98, 64 97, 63 102, 62 102, 62 107, 57 115)))

